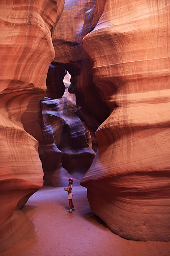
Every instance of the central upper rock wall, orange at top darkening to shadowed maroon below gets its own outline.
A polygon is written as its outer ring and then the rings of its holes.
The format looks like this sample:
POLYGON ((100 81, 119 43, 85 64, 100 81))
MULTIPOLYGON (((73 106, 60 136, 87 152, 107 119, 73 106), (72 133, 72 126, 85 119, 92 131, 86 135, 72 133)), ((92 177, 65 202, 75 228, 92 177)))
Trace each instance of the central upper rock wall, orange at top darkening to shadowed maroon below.
MULTIPOLYGON (((85 13, 94 4, 95 0, 66 0, 64 11, 52 34, 55 65, 58 64, 71 74, 69 92, 76 95, 77 115, 93 133, 109 115, 103 95, 93 82, 89 57, 82 48, 82 37, 92 29, 91 24, 85 22, 85 16, 86 19, 89 16, 85 13)), ((98 14, 96 17, 102 13, 101 8, 93 11, 98 14)), ((97 19, 94 20, 96 23, 97 19)))

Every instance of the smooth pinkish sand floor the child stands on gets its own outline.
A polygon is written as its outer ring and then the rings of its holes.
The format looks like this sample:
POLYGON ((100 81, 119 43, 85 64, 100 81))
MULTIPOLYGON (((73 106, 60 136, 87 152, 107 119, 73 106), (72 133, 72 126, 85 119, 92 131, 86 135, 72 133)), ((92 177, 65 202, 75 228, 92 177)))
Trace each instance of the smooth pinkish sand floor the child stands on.
POLYGON ((22 211, 35 224, 37 233, 1 256, 170 255, 170 242, 128 241, 113 234, 92 213, 86 189, 73 186, 73 193, 73 213, 67 213, 67 192, 63 188, 45 186, 35 193, 22 211))

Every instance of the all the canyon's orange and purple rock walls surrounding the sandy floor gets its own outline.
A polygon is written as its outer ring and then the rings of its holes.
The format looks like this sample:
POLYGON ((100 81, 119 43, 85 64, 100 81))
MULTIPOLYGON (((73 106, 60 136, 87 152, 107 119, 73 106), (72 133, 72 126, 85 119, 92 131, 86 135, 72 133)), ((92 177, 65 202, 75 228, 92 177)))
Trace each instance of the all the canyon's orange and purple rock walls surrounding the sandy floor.
MULTIPOLYGON (((110 237, 153 242, 165 249, 148 255, 169 255, 169 7, 0 2, 2 256, 37 232, 22 210, 29 200, 69 177, 110 237)), ((86 255, 120 255, 112 253, 86 255)))

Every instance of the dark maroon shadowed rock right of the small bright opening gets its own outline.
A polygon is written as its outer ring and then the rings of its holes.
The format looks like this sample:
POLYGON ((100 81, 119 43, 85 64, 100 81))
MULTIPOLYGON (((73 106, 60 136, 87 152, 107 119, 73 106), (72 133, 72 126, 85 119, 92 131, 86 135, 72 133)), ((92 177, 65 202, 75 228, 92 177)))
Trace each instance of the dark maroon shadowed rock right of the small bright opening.
MULTIPOLYGON (((78 47, 80 48, 80 46, 78 47)), ((70 61, 69 63, 53 62, 52 65, 58 70, 63 68, 70 73, 71 83, 68 92, 76 96, 76 114, 87 125, 88 129, 95 133, 109 116, 110 110, 104 102, 100 90, 93 83, 93 75, 89 69, 91 63, 87 59, 70 61), (82 91, 82 86, 87 88, 82 91)))

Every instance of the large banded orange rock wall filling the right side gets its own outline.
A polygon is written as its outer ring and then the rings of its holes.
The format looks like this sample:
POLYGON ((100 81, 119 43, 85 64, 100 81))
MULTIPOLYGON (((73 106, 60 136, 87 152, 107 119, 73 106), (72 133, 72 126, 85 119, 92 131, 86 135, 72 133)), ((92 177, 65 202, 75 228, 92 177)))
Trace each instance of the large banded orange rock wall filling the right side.
POLYGON ((106 0, 83 39, 110 116, 81 184, 92 211, 126 239, 170 240, 168 21, 169 1, 106 0))

